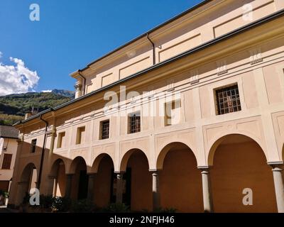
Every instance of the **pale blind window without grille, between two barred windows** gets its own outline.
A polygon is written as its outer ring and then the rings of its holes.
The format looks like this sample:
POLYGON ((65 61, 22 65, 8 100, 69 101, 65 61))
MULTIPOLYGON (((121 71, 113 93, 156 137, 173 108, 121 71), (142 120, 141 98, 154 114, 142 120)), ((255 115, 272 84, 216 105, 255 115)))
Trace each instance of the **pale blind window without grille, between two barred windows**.
POLYGON ((165 126, 180 123, 180 99, 165 103, 165 126))

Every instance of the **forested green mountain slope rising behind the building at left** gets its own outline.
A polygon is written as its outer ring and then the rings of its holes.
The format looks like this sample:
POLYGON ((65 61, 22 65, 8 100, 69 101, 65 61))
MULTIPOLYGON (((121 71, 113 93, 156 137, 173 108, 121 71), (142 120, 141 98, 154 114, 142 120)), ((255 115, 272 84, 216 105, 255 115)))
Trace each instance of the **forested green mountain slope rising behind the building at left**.
POLYGON ((54 89, 52 92, 28 92, 0 96, 0 125, 11 126, 23 120, 31 109, 43 111, 74 99, 74 92, 54 89))

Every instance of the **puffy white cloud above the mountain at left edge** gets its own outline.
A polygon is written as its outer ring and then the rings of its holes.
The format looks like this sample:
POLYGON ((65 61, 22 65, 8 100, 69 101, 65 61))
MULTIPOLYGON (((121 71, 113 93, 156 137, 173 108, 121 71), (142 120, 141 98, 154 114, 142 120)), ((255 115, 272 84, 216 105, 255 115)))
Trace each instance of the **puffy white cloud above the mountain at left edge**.
POLYGON ((0 62, 0 96, 33 91, 38 84, 38 73, 25 66, 23 60, 10 57, 16 65, 4 65, 0 62))

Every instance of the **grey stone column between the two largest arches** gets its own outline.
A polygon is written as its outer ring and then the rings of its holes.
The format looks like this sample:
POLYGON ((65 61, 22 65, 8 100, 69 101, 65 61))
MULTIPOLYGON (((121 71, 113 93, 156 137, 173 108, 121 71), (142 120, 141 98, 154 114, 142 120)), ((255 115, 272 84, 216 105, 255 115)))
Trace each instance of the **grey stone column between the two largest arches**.
POLYGON ((209 167, 199 167, 202 175, 202 193, 205 213, 214 212, 209 167))

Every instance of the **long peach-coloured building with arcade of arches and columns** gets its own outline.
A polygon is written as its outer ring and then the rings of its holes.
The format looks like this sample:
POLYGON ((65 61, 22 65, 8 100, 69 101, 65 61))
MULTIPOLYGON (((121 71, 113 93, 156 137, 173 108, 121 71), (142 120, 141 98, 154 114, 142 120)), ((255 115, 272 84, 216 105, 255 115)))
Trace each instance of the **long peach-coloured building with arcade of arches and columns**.
POLYGON ((283 44, 283 0, 207 0, 73 72, 16 125, 10 206, 34 172, 97 206, 284 212, 283 44))

